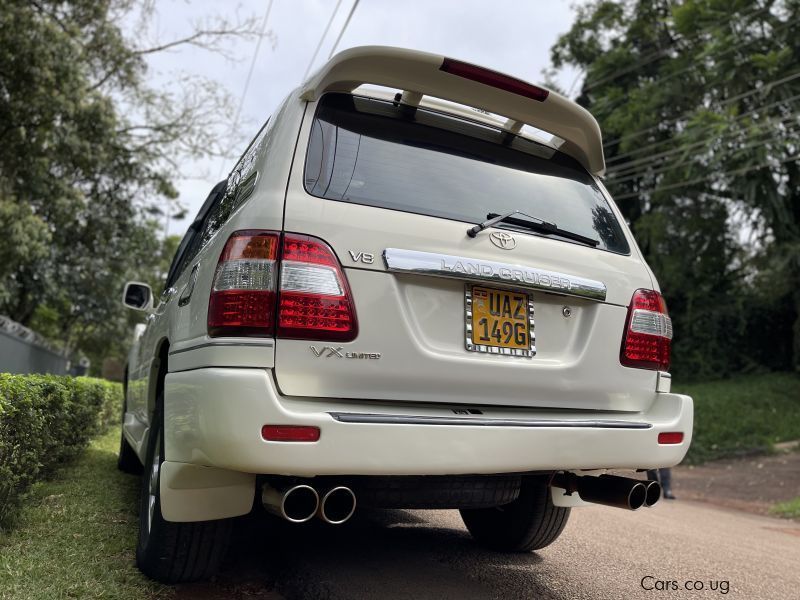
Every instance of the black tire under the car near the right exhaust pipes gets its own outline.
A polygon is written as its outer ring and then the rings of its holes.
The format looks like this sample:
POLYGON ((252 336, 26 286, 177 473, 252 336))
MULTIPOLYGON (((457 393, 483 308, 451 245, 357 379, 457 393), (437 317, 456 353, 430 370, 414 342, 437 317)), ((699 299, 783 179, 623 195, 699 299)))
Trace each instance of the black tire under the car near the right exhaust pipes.
POLYGON ((552 544, 567 524, 569 508, 553 506, 547 477, 524 477, 519 497, 493 508, 462 509, 476 541, 500 552, 531 552, 552 544))

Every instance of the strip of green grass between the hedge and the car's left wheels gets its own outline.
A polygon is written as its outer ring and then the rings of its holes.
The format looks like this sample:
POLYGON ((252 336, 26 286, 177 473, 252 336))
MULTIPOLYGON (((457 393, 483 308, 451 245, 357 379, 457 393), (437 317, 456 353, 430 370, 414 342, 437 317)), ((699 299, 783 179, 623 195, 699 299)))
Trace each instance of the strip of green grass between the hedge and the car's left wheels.
POLYGON ((0 533, 0 599, 165 598, 136 569, 138 479, 116 469, 119 430, 38 484, 0 533))

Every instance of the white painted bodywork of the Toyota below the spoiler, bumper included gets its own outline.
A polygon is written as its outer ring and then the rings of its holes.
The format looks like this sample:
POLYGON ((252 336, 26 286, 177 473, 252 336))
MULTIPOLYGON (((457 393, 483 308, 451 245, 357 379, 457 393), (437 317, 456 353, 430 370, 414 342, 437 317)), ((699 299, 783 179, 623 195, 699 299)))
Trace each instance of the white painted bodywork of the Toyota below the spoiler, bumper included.
MULTIPOLYGON (((468 87, 474 86, 462 91, 468 87)), ((305 98, 301 90, 288 96, 227 178, 219 198, 232 199, 229 213, 210 226, 217 200, 207 206, 199 223, 205 229, 197 234, 202 244, 170 287, 156 293, 129 353, 123 434, 142 461, 163 386, 165 518, 245 514, 257 476, 643 469, 683 459, 691 443, 691 398, 670 393, 667 373, 620 364, 633 291, 658 290, 658 284, 596 177, 599 137, 584 157, 594 155, 593 181, 630 253, 516 230, 513 249, 503 248, 492 243, 491 228, 468 237, 475 223, 307 193, 305 157, 319 96, 308 86, 305 92, 305 98), (227 239, 242 230, 298 233, 329 244, 352 290, 356 339, 210 336, 216 266, 227 239), (480 285, 530 294, 535 355, 468 351, 467 292, 478 282, 389 268, 387 249, 512 265, 505 271, 510 278, 480 285), (591 280, 602 284, 603 294, 526 287, 514 279, 514 265, 591 280), (268 442, 261 437, 264 425, 316 426, 321 437, 268 442), (664 431, 685 438, 659 444, 664 431)), ((469 117, 470 110, 453 114, 469 117)))

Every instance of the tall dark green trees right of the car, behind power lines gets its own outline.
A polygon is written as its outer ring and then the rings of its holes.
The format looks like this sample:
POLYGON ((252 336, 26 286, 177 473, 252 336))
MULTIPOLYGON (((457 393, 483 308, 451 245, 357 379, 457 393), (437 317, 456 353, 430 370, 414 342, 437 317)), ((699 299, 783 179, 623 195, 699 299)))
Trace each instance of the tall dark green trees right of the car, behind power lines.
POLYGON ((800 366, 798 39, 797 0, 600 0, 552 49, 584 72, 685 374, 800 366))

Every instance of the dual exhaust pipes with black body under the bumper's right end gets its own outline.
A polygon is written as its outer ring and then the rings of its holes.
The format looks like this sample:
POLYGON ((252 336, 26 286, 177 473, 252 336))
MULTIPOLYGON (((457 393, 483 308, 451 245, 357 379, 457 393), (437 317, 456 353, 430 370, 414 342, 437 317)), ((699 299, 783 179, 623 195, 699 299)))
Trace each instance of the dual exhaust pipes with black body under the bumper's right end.
POLYGON ((575 475, 556 473, 550 485, 561 488, 571 496, 575 492, 581 500, 626 510, 637 510, 642 506, 653 506, 661 498, 661 484, 620 477, 619 475, 575 475))

